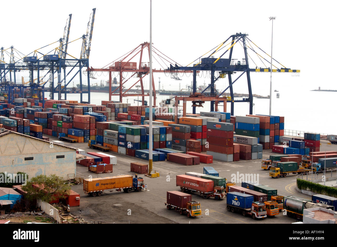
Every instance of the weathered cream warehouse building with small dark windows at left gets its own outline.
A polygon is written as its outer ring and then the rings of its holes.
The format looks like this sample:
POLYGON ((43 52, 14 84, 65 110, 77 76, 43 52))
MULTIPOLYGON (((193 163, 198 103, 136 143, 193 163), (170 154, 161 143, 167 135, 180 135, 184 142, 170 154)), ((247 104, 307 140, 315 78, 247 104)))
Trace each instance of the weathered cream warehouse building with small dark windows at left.
POLYGON ((76 174, 76 149, 0 129, 0 172, 67 179, 68 174, 76 174))

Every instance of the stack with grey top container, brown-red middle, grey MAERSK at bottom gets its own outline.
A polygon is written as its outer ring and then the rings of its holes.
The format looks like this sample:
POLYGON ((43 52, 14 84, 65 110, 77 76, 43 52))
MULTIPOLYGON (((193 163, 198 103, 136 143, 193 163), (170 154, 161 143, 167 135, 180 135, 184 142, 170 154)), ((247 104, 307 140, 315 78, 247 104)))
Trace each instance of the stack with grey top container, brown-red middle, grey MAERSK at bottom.
POLYGON ((172 149, 186 152, 186 140, 191 138, 191 127, 179 124, 169 124, 172 128, 172 149))

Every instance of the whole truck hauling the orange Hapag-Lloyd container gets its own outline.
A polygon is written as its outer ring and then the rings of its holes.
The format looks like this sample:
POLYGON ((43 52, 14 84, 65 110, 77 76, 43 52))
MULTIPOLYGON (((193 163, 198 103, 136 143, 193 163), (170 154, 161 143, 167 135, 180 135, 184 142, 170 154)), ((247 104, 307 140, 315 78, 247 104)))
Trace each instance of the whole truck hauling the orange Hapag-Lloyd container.
POLYGON ((120 175, 114 177, 90 178, 83 180, 83 191, 86 195, 96 197, 101 196, 104 190, 113 190, 130 193, 132 190, 142 191, 144 179, 133 178, 130 175, 120 175))

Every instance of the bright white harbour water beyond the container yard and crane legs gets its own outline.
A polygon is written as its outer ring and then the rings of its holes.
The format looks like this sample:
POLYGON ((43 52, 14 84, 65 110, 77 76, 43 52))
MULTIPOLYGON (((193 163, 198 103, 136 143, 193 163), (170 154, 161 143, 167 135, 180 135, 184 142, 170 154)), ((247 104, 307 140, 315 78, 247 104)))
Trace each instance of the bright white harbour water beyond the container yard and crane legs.
MULTIPOLYGON (((336 130, 336 97, 337 92, 317 92, 308 90, 279 90, 280 98, 276 98, 276 92, 272 94, 272 115, 284 116, 284 128, 289 130, 317 132, 324 134, 337 134, 336 130)), ((85 97, 85 96, 84 96, 85 97)), ((170 96, 157 95, 157 105, 161 100, 170 96)), ((57 99, 57 94, 55 94, 57 99)), ((68 99, 80 100, 79 94, 68 95, 68 99)), ((141 105, 142 97, 123 97, 123 103, 141 105)), ((86 100, 86 99, 84 99, 86 100)), ((108 93, 91 93, 91 103, 100 105, 102 100, 109 100, 108 93)), ((118 96, 112 100, 119 101, 118 96)), ((149 101, 149 97, 145 97, 149 101)), ((269 99, 253 99, 253 114, 269 114, 269 99)), ((192 112, 191 103, 187 103, 187 112, 192 112)), ((196 113, 209 111, 210 102, 197 107, 196 113)), ((219 110, 223 110, 222 103, 219 110)), ((227 112, 230 112, 231 104, 227 103, 227 112)), ((234 115, 249 114, 249 103, 235 103, 234 115)))

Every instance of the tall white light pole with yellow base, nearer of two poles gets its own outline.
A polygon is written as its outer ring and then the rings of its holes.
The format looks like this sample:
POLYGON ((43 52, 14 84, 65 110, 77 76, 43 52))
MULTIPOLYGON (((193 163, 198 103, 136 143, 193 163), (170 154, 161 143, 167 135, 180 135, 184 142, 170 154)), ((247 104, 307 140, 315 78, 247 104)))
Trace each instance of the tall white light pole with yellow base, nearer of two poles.
POLYGON ((152 0, 150 0, 149 174, 152 171, 152 0))

